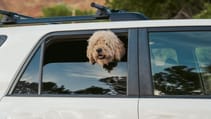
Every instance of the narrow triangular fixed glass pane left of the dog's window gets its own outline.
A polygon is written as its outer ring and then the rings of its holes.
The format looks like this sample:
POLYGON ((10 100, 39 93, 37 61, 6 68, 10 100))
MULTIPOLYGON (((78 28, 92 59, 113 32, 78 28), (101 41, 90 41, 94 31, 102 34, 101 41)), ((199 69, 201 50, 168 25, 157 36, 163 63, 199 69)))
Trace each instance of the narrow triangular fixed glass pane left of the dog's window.
POLYGON ((32 57, 29 65, 18 81, 13 94, 38 94, 40 51, 39 48, 32 57))

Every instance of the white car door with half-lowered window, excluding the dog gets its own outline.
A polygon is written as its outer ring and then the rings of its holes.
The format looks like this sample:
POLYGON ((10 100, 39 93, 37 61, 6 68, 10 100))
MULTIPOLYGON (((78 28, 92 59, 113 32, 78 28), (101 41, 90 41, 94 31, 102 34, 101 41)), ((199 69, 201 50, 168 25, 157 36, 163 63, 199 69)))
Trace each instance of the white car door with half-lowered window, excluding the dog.
POLYGON ((138 119, 137 29, 110 29, 126 55, 111 71, 90 64, 97 30, 49 33, 0 102, 1 119, 138 119))

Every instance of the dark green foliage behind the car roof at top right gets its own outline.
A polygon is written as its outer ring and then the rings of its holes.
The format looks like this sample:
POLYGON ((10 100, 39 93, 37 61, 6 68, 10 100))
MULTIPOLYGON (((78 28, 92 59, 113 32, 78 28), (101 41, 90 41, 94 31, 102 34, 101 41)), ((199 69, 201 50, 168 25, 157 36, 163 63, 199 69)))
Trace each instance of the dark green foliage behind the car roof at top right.
POLYGON ((115 9, 142 12, 151 19, 192 18, 210 0, 106 0, 115 9))

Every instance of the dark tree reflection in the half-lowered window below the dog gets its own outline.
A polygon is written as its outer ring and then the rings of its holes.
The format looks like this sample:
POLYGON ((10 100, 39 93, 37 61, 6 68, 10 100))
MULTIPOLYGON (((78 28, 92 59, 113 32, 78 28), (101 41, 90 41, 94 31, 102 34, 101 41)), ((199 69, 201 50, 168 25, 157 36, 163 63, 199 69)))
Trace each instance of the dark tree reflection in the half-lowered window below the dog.
POLYGON ((110 88, 102 88, 98 86, 90 86, 85 89, 70 91, 64 85, 58 86, 54 82, 43 83, 44 94, 92 94, 92 95, 126 95, 126 77, 109 77, 100 79, 99 81, 106 83, 110 88))

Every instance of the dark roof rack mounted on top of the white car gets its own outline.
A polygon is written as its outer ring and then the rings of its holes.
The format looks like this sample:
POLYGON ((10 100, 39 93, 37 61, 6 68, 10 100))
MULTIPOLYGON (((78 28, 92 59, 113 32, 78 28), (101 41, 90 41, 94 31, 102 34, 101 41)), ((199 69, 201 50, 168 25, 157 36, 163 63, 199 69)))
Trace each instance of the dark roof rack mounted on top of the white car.
POLYGON ((112 10, 105 6, 91 3, 91 7, 97 9, 96 15, 90 16, 61 16, 48 18, 33 18, 22 14, 0 10, 3 15, 0 24, 33 24, 33 23, 63 23, 73 21, 90 21, 90 20, 110 20, 110 21, 129 21, 129 20, 147 20, 141 13, 126 12, 123 10, 112 10))

